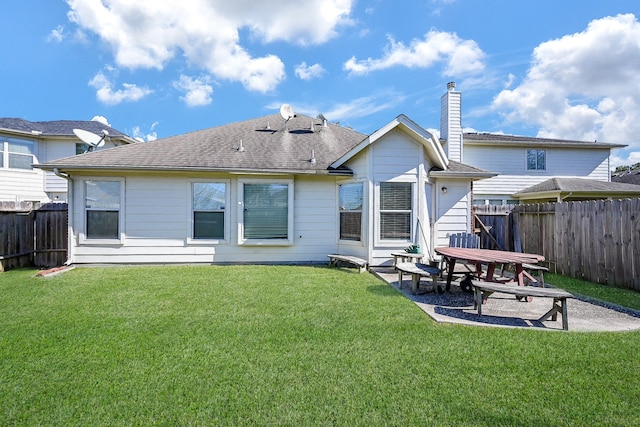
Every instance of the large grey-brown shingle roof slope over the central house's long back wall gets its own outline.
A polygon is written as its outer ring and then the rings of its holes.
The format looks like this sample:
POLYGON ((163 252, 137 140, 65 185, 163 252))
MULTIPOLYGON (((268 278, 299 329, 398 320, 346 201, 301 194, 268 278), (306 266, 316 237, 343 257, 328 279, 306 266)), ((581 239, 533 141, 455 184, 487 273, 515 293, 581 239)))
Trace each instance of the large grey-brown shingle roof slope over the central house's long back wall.
POLYGON ((326 173, 332 162, 364 138, 352 129, 335 124, 324 127, 319 119, 303 115, 289 120, 285 129, 284 119, 274 114, 39 167, 326 173))

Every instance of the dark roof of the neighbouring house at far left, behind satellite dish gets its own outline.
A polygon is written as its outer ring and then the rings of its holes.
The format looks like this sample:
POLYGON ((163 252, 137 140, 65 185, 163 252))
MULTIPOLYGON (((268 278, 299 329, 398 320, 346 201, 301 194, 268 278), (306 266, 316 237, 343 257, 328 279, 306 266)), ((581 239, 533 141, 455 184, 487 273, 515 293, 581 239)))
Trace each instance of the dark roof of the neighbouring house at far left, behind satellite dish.
POLYGON ((77 138, 73 129, 83 129, 101 135, 103 130, 109 132, 111 138, 122 140, 126 143, 136 142, 128 135, 117 129, 107 126, 95 120, 53 120, 48 122, 30 122, 24 119, 0 117, 0 132, 17 132, 35 136, 72 136, 77 138))

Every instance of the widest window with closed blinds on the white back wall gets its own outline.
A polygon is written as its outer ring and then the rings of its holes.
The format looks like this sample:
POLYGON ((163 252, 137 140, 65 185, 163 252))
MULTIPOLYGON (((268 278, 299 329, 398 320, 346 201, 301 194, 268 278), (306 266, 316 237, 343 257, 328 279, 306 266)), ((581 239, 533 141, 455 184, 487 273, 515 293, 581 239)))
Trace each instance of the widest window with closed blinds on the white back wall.
POLYGON ((291 244, 293 181, 241 182, 241 236, 244 243, 291 244))

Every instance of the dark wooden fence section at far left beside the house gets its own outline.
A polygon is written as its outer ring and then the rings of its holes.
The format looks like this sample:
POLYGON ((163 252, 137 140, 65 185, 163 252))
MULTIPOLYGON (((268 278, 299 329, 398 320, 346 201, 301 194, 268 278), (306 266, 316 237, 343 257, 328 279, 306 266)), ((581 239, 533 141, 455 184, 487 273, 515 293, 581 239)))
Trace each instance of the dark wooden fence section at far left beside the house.
POLYGON ((0 272, 18 267, 57 267, 67 260, 65 203, 0 204, 0 272))

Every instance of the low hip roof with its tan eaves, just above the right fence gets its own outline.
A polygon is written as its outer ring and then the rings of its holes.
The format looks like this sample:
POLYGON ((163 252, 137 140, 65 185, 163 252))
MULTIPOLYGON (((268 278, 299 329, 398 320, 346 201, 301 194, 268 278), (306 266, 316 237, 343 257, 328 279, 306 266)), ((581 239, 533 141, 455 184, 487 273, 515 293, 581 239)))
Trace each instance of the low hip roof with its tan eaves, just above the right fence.
POLYGON ((513 195, 518 199, 638 197, 640 186, 584 178, 551 178, 513 195))

